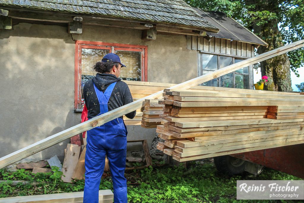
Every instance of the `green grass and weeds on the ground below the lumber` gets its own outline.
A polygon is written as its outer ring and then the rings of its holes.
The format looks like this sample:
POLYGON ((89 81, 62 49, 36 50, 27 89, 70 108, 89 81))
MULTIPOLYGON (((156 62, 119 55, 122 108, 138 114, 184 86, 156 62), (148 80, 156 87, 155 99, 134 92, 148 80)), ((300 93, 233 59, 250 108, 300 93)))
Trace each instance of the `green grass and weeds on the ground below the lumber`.
MULTIPOLYGON (((53 167, 52 173, 37 173, 17 170, 6 172, 0 170, 2 180, 29 180, 37 185, 10 186, 9 182, 0 183, 0 197, 53 194, 61 192, 83 191, 84 180, 63 183, 62 172, 53 167)), ((236 200, 237 180, 302 180, 300 178, 265 169, 260 175, 227 177, 219 174, 212 163, 203 165, 192 162, 187 169, 182 166, 162 166, 126 172, 128 180, 128 201, 158 203, 191 203, 191 202, 296 202, 296 201, 253 201, 236 200)), ((101 190, 113 189, 111 176, 105 176, 99 187, 101 190)), ((299 202, 299 201, 297 201, 299 202)))

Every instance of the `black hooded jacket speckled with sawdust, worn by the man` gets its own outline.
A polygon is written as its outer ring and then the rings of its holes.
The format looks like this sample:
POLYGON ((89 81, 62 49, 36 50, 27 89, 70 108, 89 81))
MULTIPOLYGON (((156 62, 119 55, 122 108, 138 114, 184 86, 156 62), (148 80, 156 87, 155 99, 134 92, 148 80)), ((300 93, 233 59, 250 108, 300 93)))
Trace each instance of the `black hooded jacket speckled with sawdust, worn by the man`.
MULTIPOLYGON (((128 85, 112 74, 97 73, 96 76, 85 83, 83 88, 85 105, 88 108, 88 118, 97 116, 100 113, 98 98, 95 93, 94 85, 103 93, 110 84, 116 82, 113 92, 108 102, 108 110, 111 111, 123 105, 133 102, 128 85)), ((134 118, 136 110, 126 114, 128 118, 134 118)), ((122 117, 121 117, 122 118, 122 117)))

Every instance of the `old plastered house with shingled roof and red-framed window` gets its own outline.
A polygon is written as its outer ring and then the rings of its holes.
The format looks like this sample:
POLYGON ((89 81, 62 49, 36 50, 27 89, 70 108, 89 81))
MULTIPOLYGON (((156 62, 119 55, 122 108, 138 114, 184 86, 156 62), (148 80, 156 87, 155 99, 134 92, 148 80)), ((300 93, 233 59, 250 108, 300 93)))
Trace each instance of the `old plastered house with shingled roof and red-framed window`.
MULTIPOLYGON (((123 79, 180 83, 267 45, 233 19, 182 0, 0 0, 0 22, 1 157, 80 123, 82 84, 106 53, 127 66, 123 79)), ((251 88, 252 72, 204 85, 251 88)), ((155 135, 140 126, 128 132, 149 145, 155 135)), ((68 142, 26 160, 62 159, 68 142)))

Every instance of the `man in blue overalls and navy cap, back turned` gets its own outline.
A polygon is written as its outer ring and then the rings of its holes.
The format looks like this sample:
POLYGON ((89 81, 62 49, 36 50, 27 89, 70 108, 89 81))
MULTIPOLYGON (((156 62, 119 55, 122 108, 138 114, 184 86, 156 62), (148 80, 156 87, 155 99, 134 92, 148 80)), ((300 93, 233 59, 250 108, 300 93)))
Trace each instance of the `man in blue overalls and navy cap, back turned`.
MULTIPOLYGON (((120 68, 126 67, 116 54, 106 54, 93 68, 96 76, 84 86, 88 119, 133 102, 128 85, 118 77, 120 68)), ((134 118, 136 111, 126 114, 134 118)), ((119 117, 87 131, 85 154, 85 203, 97 203, 105 156, 109 159, 114 188, 114 202, 127 202, 126 166, 127 129, 119 117)))

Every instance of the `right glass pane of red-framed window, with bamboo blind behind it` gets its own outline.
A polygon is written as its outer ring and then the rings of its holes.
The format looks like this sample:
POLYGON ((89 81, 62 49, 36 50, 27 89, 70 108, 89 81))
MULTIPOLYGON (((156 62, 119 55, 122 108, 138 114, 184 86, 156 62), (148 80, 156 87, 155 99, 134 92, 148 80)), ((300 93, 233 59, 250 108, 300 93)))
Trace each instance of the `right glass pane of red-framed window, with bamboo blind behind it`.
POLYGON ((116 51, 122 64, 127 67, 121 68, 119 78, 123 80, 141 81, 141 52, 116 51))

